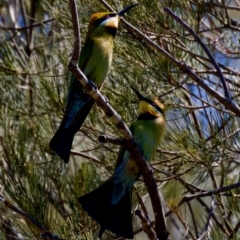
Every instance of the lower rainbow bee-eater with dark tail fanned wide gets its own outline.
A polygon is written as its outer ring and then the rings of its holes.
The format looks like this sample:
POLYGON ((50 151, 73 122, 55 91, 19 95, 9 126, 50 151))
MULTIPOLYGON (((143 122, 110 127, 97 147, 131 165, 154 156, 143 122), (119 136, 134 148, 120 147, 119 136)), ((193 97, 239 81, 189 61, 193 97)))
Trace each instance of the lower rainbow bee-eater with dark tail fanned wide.
MULTIPOLYGON (((132 88, 139 98, 139 116, 130 126, 132 135, 150 161, 165 132, 164 106, 157 99, 144 97, 132 88)), ((100 223, 99 238, 105 229, 133 238, 131 190, 139 178, 138 165, 125 147, 121 147, 114 174, 96 190, 78 198, 82 208, 100 223)))

